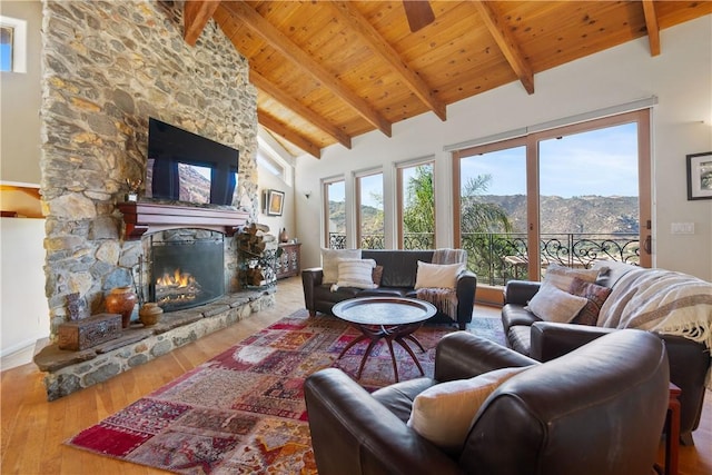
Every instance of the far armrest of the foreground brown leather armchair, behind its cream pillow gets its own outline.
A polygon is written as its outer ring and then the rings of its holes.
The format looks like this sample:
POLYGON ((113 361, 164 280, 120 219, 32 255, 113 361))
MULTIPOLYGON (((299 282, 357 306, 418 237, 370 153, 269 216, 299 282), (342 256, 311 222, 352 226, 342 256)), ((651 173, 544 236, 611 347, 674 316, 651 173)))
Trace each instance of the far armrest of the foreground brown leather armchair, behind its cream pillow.
POLYGON ((468 331, 445 335, 435 350, 435 379, 466 379, 494 369, 530 366, 536 360, 468 331))

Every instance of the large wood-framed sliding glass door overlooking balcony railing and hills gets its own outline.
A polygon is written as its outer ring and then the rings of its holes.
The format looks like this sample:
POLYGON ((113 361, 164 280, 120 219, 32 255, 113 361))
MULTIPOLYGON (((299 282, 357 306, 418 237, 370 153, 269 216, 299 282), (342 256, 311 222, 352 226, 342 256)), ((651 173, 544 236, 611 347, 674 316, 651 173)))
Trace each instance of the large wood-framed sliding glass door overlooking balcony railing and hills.
POLYGON ((459 150, 454 158, 461 189, 455 245, 468 249, 484 285, 536 280, 552 264, 651 265, 649 109, 459 150), (465 192, 473 177, 490 186, 486 195, 465 192), (498 207, 508 226, 473 227, 467 214, 485 204, 498 207))

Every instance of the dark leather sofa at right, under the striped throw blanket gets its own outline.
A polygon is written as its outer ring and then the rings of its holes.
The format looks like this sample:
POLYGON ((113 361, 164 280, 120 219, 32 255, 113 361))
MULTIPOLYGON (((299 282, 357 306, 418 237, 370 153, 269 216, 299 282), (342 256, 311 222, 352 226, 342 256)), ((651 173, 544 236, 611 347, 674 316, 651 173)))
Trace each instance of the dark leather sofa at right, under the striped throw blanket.
MULTIPOLYGON (((601 264, 603 266, 603 264, 601 264)), ((613 287, 633 266, 611 266, 597 284, 613 287)), ((504 289, 502 324, 510 348, 537 362, 548 362, 603 335, 620 331, 587 325, 543 321, 524 307, 534 297, 540 283, 510 280, 504 289)), ((680 441, 693 445, 692 431, 698 428, 704 403, 705 377, 710 368, 710 350, 680 336, 657 335, 665 344, 670 359, 670 380, 682 389, 680 396, 680 441)))

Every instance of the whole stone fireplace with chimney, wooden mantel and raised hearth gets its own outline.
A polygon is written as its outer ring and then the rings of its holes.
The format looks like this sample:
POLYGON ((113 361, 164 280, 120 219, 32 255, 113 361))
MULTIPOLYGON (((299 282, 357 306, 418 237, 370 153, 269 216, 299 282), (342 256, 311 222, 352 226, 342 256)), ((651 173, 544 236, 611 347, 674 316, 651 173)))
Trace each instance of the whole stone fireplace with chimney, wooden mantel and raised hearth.
POLYGON ((47 372, 50 400, 274 305, 274 289, 240 289, 234 237, 259 210, 257 90, 214 21, 195 47, 182 40, 182 3, 42 2, 40 191, 52 344, 34 362, 47 372), (138 202, 125 202, 128 184, 146 174, 151 117, 238 149, 235 207, 151 202, 142 188, 138 202), (176 304, 158 325, 134 324, 89 349, 57 348, 70 301, 81 319, 103 313, 115 287, 139 286, 149 299, 176 294, 175 284, 151 289, 148 273, 170 274, 164 263, 178 259, 180 277, 185 246, 211 248, 198 258, 210 273, 190 270, 201 305, 176 304))

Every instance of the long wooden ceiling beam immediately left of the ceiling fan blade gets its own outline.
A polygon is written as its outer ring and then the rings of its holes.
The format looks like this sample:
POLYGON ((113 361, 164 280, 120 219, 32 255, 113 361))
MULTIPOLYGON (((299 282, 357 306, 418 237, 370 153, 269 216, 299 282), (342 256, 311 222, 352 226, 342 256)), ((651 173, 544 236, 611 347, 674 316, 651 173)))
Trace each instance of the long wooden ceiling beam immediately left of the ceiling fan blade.
POLYGON ((400 80, 411 89, 415 96, 425 103, 441 120, 447 120, 445 103, 439 101, 433 90, 421 77, 408 67, 400 58, 400 55, 386 42, 376 29, 364 18, 363 14, 349 1, 335 1, 333 4, 349 22, 350 27, 368 43, 370 49, 380 56, 400 80))

